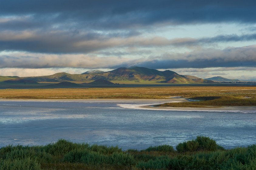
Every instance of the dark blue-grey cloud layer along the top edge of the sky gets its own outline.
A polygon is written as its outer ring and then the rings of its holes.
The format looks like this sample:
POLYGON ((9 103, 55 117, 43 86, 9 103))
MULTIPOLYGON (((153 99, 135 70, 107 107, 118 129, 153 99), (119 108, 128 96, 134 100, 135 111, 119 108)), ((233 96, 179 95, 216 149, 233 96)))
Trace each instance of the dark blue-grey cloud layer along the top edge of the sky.
POLYGON ((79 23, 80 28, 126 29, 162 22, 255 23, 255 6, 254 0, 8 0, 1 2, 0 15, 31 15, 45 24, 79 23))

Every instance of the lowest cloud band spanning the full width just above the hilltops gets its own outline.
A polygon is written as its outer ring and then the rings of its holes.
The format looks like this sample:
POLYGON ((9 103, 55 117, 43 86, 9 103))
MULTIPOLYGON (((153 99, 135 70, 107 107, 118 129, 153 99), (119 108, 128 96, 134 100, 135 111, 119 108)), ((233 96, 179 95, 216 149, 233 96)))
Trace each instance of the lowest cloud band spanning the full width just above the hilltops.
POLYGON ((14 53, 0 56, 0 68, 118 68, 129 66, 147 68, 209 68, 255 67, 256 45, 239 48, 203 48, 185 53, 165 53, 155 57, 137 59, 97 55, 49 55, 38 53, 14 53), (157 58, 157 59, 156 59, 157 58))

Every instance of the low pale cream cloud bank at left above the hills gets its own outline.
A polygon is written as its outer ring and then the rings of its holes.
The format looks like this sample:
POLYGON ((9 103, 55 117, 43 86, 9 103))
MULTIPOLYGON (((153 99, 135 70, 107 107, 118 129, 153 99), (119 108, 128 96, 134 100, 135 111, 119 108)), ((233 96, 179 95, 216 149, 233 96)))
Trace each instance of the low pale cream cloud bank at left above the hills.
POLYGON ((15 53, 0 56, 0 68, 111 68, 130 59, 93 55, 48 55, 15 53))

